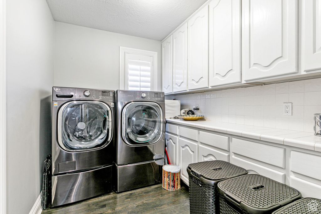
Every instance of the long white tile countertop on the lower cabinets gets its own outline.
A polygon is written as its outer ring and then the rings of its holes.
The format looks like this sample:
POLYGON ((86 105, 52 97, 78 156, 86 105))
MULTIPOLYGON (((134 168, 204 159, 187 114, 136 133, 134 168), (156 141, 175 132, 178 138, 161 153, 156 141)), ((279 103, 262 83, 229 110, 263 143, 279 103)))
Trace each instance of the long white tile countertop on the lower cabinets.
POLYGON ((314 133, 310 132, 221 123, 208 120, 187 121, 183 119, 166 119, 166 121, 321 152, 321 137, 315 136, 314 133))

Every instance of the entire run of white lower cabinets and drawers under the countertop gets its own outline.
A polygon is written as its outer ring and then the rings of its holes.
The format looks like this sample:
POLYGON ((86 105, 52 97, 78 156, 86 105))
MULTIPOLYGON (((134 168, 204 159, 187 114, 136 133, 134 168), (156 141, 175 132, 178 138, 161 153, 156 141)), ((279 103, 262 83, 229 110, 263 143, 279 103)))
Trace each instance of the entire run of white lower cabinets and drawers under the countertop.
POLYGON ((290 185, 303 197, 321 198, 321 152, 171 123, 165 139, 169 160, 181 167, 187 185, 189 164, 224 160, 290 185))

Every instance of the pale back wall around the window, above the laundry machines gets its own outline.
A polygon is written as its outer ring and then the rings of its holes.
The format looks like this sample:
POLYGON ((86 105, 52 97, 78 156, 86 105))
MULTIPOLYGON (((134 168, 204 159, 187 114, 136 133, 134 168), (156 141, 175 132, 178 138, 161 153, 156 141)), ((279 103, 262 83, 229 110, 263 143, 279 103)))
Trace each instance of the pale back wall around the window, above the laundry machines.
POLYGON ((55 22, 55 86, 119 89, 119 47, 158 52, 161 90, 161 42, 55 22))

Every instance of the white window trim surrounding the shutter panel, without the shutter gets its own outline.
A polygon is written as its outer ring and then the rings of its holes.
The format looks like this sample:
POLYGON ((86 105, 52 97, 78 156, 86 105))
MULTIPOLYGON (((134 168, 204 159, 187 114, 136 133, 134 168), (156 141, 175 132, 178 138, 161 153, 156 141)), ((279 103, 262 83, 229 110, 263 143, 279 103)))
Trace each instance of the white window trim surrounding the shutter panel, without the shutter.
POLYGON ((126 61, 125 61, 125 54, 139 54, 144 56, 152 56, 153 57, 153 66, 152 66, 152 87, 151 91, 157 91, 157 52, 148 51, 148 50, 140 50, 130 47, 119 47, 119 89, 125 90, 125 69, 126 69, 126 61))

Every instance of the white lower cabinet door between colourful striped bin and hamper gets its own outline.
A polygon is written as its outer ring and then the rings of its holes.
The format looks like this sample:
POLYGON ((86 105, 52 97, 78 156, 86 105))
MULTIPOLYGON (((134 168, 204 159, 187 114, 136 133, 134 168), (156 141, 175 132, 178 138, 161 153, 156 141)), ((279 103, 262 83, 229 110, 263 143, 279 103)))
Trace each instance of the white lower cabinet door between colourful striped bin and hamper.
POLYGON ((178 165, 181 167, 181 179, 188 185, 188 164, 196 163, 198 155, 197 142, 179 138, 178 165))

